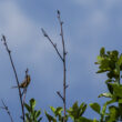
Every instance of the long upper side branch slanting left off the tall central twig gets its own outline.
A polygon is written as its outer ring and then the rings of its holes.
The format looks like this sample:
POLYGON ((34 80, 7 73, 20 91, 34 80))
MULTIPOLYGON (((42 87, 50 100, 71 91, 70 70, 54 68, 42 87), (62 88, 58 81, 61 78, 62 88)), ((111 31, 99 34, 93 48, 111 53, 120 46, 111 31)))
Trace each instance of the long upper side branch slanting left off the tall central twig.
POLYGON ((55 49, 58 55, 59 55, 60 59, 63 61, 63 58, 62 58, 62 55, 60 54, 60 52, 59 52, 59 50, 58 50, 58 48, 57 48, 57 44, 54 44, 54 43, 52 42, 52 40, 50 39, 50 37, 47 34, 47 32, 45 32, 43 29, 41 29, 41 31, 42 31, 43 35, 51 42, 51 44, 52 44, 53 48, 55 49))

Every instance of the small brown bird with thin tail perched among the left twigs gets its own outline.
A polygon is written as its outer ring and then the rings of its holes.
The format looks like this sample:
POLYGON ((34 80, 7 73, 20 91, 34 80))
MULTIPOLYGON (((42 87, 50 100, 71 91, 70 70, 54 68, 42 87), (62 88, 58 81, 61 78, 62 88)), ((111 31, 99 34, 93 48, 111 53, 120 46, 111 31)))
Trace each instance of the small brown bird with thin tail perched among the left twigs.
MULTIPOLYGON (((19 84, 19 88, 21 89, 28 88, 28 85, 30 84, 30 81, 31 81, 31 78, 29 74, 27 74, 22 83, 19 84)), ((18 87, 12 87, 12 88, 18 88, 18 87)))

